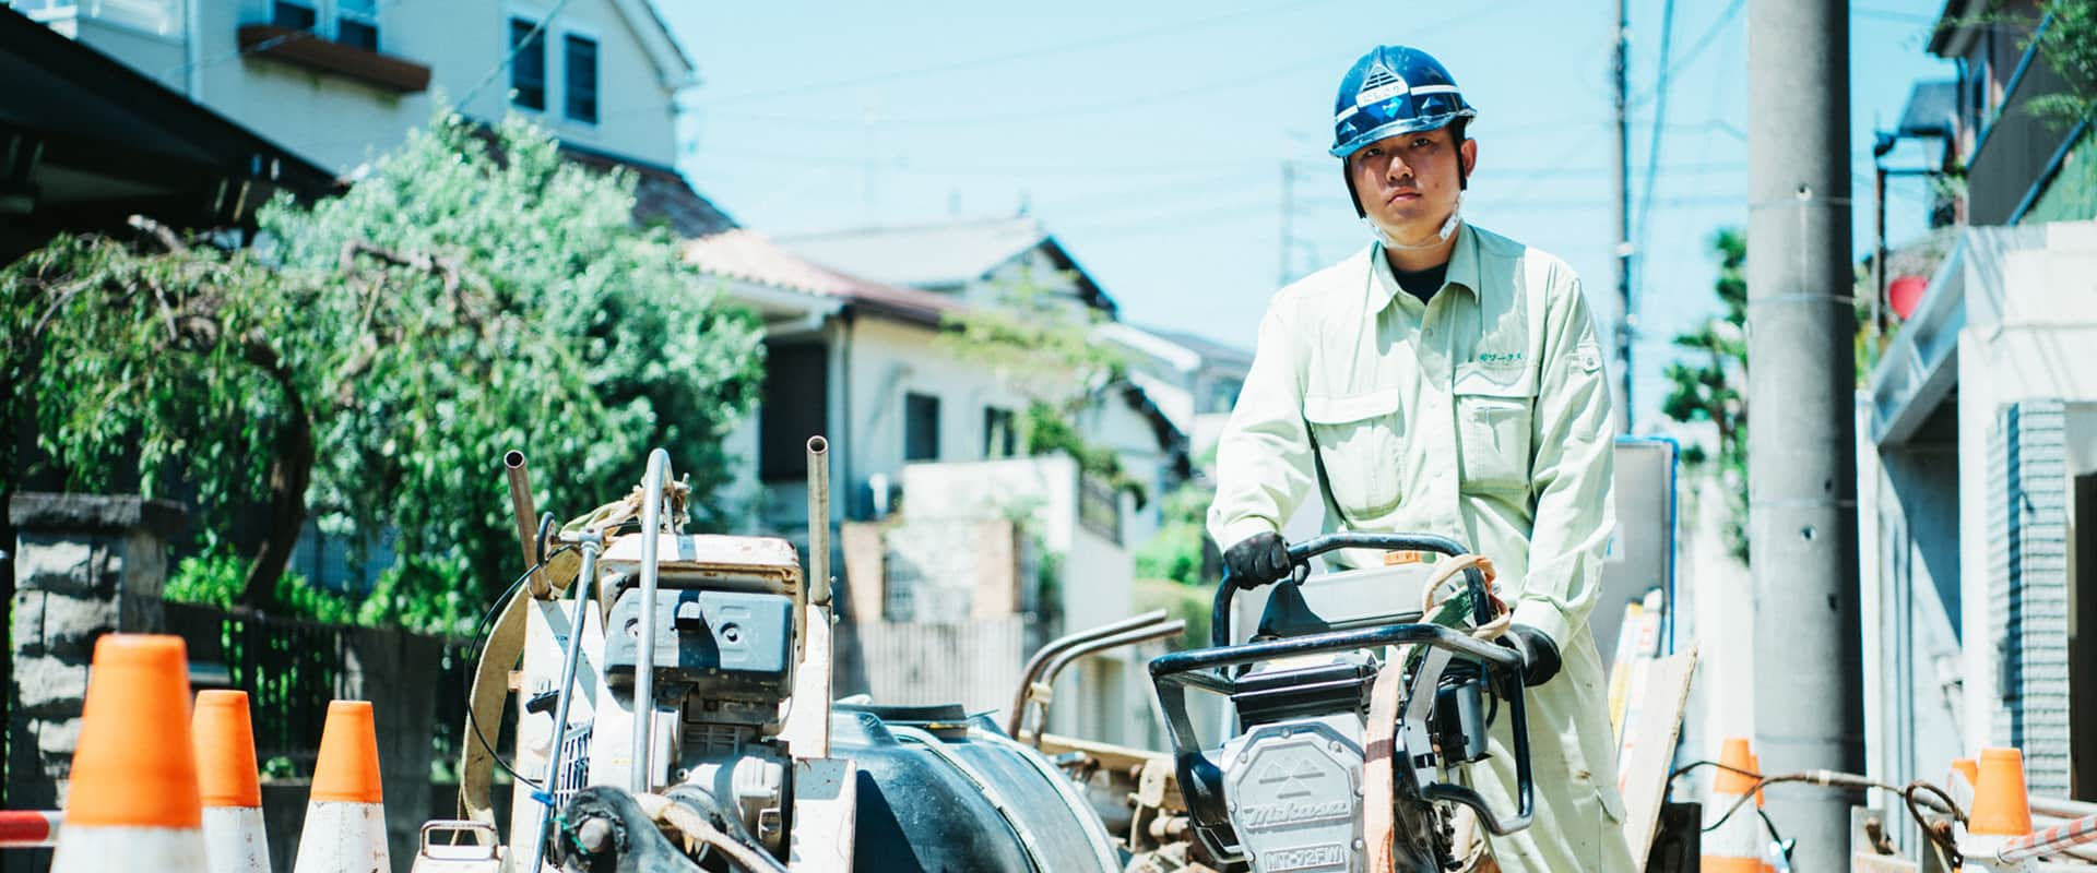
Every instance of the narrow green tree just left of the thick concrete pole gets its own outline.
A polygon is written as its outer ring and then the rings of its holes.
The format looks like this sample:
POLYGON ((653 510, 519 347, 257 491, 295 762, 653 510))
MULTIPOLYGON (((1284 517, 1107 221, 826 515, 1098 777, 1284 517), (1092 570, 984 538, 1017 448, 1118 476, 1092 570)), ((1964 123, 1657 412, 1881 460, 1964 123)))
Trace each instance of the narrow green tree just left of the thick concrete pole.
POLYGON ((1717 429, 1715 452, 1690 444, 1682 456, 1692 471, 1720 479, 1726 542, 1747 561, 1747 237, 1720 228, 1711 253, 1717 255, 1715 291, 1724 312, 1676 337, 1686 354, 1667 364, 1661 412, 1682 423, 1709 421, 1717 429))

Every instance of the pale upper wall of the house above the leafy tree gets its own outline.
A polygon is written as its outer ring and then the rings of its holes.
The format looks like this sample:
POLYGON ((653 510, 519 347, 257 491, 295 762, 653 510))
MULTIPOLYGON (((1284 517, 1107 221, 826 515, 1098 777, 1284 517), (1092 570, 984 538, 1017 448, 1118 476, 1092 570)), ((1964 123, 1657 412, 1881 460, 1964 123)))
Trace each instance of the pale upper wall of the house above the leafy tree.
MULTIPOLYGON (((331 6, 329 0, 315 2, 331 6)), ((193 19, 197 27, 191 31, 195 46, 185 46, 180 36, 159 38, 88 17, 78 27, 82 42, 178 92, 191 90, 187 65, 193 57, 193 100, 323 167, 348 174, 407 140, 409 130, 426 126, 438 96, 461 100, 495 71, 510 54, 512 15, 541 19, 549 8, 552 0, 380 2, 380 52, 430 67, 430 88, 419 94, 396 94, 266 54, 243 54, 239 27, 268 23, 271 6, 262 0, 199 2, 193 19)), ((570 0, 545 31, 545 111, 518 113, 566 142, 673 165, 673 96, 612 0, 570 0), (562 111, 566 33, 598 40, 598 124, 568 121, 562 111)), ((503 117, 512 109, 510 73, 495 71, 472 103, 459 109, 478 119, 503 117)))

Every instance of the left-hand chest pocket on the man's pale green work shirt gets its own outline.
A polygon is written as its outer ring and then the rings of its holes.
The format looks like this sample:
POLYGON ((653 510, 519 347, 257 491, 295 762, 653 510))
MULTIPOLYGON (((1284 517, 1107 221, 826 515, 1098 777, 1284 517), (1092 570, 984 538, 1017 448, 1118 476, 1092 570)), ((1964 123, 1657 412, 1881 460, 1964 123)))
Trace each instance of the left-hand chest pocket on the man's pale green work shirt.
POLYGON ((1399 446, 1405 421, 1399 389, 1355 396, 1306 396, 1304 421, 1325 465, 1332 502, 1348 517, 1365 519, 1399 505, 1399 446))

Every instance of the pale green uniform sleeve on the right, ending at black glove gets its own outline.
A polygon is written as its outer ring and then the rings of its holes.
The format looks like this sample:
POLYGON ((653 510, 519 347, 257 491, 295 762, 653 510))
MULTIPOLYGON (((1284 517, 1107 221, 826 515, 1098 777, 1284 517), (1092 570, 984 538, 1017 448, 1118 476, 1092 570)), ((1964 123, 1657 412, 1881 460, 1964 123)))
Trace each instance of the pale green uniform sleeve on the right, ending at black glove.
POLYGON ((1602 557, 1617 528, 1610 496, 1617 442, 1608 371, 1579 278, 1566 276, 1550 293, 1531 461, 1537 511, 1514 622, 1564 647, 1594 611, 1602 557))

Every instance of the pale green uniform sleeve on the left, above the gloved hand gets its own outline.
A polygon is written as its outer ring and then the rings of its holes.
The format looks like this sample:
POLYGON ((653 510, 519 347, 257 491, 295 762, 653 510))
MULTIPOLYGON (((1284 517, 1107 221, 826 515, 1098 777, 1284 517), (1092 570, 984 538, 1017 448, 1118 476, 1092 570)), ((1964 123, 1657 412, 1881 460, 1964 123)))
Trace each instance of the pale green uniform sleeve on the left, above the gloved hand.
POLYGON ((1281 532, 1317 484, 1294 331, 1285 301, 1277 299, 1260 322, 1252 371, 1216 442, 1216 502, 1208 507, 1216 549, 1281 532))

